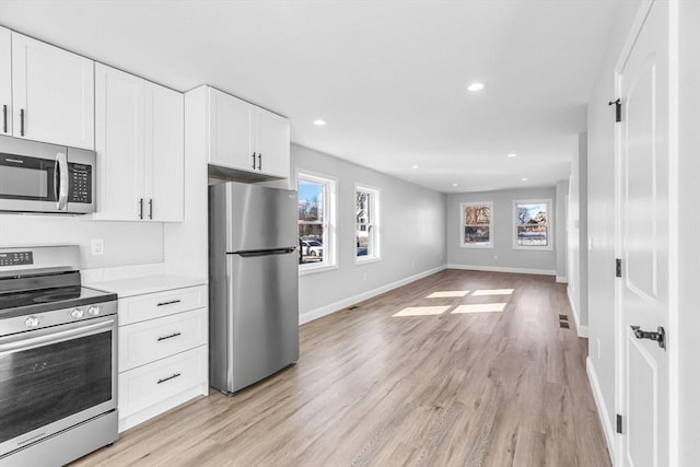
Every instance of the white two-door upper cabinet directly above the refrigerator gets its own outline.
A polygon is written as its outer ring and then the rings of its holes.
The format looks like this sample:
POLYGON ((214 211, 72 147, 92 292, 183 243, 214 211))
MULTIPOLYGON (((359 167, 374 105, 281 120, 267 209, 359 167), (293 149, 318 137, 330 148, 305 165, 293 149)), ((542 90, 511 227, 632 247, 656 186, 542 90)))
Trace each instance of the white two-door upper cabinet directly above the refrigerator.
POLYGON ((207 95, 209 164, 253 179, 288 178, 289 120, 212 87, 207 95))

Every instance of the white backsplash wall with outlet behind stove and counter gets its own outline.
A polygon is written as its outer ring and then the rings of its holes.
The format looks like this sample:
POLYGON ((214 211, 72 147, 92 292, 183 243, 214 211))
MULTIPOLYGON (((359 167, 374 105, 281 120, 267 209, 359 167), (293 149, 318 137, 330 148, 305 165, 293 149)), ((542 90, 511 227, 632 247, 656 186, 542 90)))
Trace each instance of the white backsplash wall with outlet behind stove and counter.
POLYGON ((0 214, 0 245, 49 244, 80 245, 83 269, 161 262, 163 223, 93 221, 84 215, 0 214), (104 240, 104 255, 91 255, 93 238, 104 240))

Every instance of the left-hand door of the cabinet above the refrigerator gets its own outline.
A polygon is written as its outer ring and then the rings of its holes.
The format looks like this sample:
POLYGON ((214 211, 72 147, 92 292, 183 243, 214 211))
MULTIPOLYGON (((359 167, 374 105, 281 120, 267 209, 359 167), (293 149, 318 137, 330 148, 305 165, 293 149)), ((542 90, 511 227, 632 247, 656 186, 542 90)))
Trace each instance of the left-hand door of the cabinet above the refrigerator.
POLYGON ((253 149, 253 105, 210 87, 209 163, 257 172, 253 149))

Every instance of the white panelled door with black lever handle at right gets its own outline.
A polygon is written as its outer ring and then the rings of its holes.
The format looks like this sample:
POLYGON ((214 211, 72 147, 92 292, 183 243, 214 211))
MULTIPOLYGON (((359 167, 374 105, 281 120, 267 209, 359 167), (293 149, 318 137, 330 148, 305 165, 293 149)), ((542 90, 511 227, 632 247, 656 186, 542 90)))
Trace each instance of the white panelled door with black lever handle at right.
MULTIPOLYGON (((648 7, 649 8, 649 7, 648 7)), ((669 465, 668 353, 640 330, 668 329, 669 7, 655 2, 618 75, 622 277, 619 342, 620 465, 669 465)), ((633 32, 634 34, 635 32, 633 32)))

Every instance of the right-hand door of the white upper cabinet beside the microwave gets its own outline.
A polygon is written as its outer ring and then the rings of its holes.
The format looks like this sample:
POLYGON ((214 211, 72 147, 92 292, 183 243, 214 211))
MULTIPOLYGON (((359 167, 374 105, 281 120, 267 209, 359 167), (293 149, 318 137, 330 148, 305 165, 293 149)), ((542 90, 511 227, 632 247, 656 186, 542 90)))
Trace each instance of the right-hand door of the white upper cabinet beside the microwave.
POLYGON ((183 221, 185 205, 185 98, 145 83, 147 219, 183 221))

